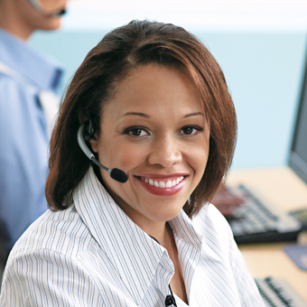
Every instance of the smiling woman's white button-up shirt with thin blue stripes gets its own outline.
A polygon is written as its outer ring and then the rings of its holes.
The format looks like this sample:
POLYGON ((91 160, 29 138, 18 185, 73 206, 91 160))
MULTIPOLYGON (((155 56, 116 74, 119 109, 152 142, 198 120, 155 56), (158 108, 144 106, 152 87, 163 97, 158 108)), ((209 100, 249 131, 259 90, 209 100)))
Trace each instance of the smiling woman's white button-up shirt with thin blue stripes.
MULTIPOLYGON (((192 221, 181 210, 169 223, 190 306, 264 306, 218 209, 206 206, 192 221)), ((126 216, 90 168, 74 204, 47 211, 14 246, 0 305, 164 306, 173 274, 166 249, 126 216)))

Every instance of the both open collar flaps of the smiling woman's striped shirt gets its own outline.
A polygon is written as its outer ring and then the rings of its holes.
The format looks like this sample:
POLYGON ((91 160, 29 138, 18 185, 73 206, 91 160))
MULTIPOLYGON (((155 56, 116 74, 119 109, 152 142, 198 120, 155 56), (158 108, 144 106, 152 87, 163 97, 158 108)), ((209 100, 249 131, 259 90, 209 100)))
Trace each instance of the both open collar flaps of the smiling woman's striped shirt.
MULTIPOLYGON (((166 249, 135 225, 116 205, 115 200, 98 181, 92 167, 74 192, 73 199, 79 216, 116 267, 135 302, 142 302, 153 280, 160 284, 159 288, 166 296, 168 284, 174 274, 166 249), (163 274, 158 274, 157 269, 163 270, 163 274), (159 275, 163 275, 163 279, 159 275)), ((189 250, 193 250, 199 259, 204 240, 193 227, 191 219, 181 210, 169 223, 179 254, 183 254, 182 246, 189 246, 189 250), (182 242, 185 244, 182 245, 182 242)), ((192 266, 195 269, 198 261, 195 261, 196 258, 193 260, 192 266)), ((192 274, 185 277, 191 284, 192 274)))

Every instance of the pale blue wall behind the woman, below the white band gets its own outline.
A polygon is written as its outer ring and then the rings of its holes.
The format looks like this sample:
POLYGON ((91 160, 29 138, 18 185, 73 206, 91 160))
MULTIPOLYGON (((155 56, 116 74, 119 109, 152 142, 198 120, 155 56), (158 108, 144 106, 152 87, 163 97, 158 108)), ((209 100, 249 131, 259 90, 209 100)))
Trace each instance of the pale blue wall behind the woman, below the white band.
MULTIPOLYGON (((36 33, 31 44, 63 63, 67 84, 107 30, 63 29, 36 33)), ((293 131, 305 56, 303 29, 193 28, 219 61, 237 108, 233 168, 284 165, 293 131)))

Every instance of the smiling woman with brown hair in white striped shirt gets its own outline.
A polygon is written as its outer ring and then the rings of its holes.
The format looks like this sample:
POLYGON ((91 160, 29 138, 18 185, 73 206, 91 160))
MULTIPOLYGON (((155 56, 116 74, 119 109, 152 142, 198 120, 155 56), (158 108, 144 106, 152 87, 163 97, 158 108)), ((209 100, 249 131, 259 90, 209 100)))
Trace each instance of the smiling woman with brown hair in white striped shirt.
POLYGON ((147 21, 108 33, 60 108, 51 210, 14 247, 2 306, 263 306, 209 205, 236 129, 223 73, 190 33, 147 21))

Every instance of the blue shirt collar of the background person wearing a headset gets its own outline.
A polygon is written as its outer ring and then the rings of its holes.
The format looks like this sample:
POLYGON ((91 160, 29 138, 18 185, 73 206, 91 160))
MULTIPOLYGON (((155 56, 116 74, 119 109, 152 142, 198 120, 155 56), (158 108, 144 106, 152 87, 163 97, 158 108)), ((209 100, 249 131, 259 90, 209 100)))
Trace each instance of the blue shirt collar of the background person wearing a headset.
POLYGON ((3 29, 0 29, 0 42, 0 60, 6 66, 29 79, 35 87, 56 91, 62 75, 58 63, 3 29))

